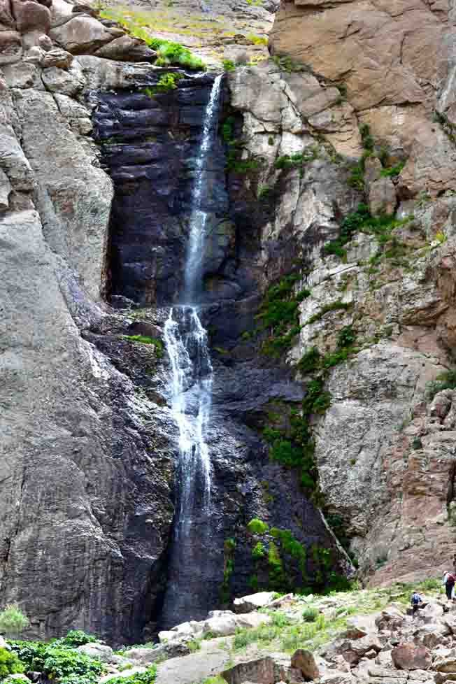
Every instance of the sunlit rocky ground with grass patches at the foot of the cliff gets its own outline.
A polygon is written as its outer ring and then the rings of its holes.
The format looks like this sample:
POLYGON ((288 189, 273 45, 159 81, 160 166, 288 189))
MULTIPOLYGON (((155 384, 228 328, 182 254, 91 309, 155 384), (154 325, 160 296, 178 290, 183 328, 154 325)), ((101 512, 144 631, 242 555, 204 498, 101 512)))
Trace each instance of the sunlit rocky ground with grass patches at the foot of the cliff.
POLYGON ((456 676, 456 608, 438 586, 422 584, 415 617, 413 585, 308 597, 262 592, 236 599, 234 611, 162 632, 159 644, 114 653, 95 641, 77 650, 104 663, 106 684, 114 676, 134 684, 152 664, 157 684, 443 684, 456 676))

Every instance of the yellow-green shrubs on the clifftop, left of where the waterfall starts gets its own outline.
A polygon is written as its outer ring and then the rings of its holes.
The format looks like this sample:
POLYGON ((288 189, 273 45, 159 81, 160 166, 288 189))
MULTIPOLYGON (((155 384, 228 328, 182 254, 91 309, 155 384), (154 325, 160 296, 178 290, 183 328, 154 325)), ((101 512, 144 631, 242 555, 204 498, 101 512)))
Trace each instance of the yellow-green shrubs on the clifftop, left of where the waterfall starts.
POLYGON ((194 71, 204 71, 206 69, 204 62, 199 57, 192 55, 192 52, 184 48, 180 43, 165 41, 162 38, 152 38, 150 35, 150 22, 139 14, 134 17, 132 13, 120 8, 105 8, 101 10, 100 17, 118 22, 131 36, 139 38, 149 48, 156 50, 157 61, 155 66, 175 64, 176 66, 183 66, 194 71))

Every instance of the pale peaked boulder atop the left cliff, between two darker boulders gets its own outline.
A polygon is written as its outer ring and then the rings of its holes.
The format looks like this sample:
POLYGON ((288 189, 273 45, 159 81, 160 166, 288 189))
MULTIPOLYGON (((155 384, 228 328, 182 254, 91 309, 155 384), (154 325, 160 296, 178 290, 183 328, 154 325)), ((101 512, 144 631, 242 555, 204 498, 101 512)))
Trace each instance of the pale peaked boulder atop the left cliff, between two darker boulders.
POLYGON ((116 36, 113 35, 113 29, 106 29, 94 17, 81 15, 52 29, 50 37, 73 55, 80 55, 95 52, 116 36))

